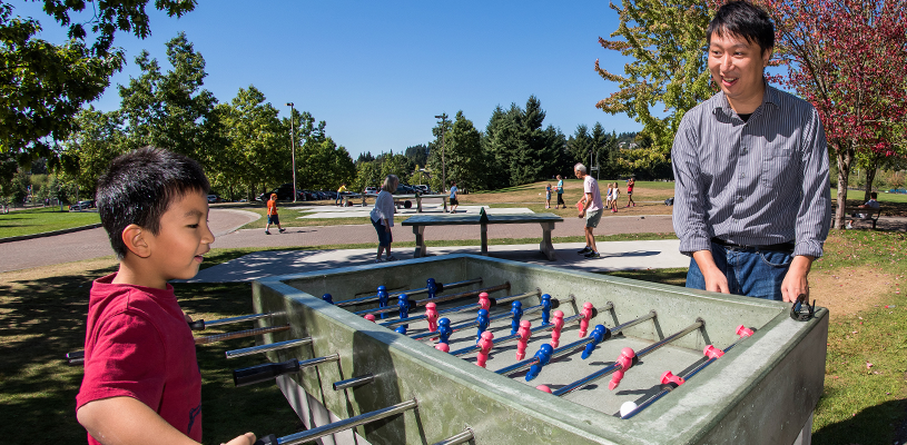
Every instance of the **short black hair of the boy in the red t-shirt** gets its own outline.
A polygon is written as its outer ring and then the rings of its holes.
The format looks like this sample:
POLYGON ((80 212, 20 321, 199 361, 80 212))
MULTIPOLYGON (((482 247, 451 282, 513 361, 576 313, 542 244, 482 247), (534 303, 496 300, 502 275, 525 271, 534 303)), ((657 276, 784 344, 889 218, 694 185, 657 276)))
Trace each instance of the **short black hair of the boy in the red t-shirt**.
POLYGON ((128 251, 122 230, 130 224, 152 235, 160 233, 160 217, 170 202, 193 191, 208 194, 210 184, 201 166, 172 151, 145 147, 121 155, 98 179, 95 200, 110 247, 122 259, 128 251))

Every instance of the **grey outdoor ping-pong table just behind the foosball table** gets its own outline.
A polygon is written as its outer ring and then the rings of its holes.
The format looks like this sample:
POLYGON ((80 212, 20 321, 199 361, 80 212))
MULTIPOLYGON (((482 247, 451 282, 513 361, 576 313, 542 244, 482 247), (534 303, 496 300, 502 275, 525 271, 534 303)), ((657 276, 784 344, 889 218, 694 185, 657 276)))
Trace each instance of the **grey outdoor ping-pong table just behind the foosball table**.
POLYGON ((415 258, 427 255, 425 249, 425 227, 428 226, 481 226, 482 255, 489 255, 489 225, 490 224, 531 224, 538 222, 542 226, 542 243, 539 250, 553 261, 554 246, 551 244, 551 230, 554 230, 556 222, 563 222, 563 218, 554 214, 519 214, 519 215, 420 215, 410 217, 402 222, 403 226, 412 226, 416 236, 415 258))

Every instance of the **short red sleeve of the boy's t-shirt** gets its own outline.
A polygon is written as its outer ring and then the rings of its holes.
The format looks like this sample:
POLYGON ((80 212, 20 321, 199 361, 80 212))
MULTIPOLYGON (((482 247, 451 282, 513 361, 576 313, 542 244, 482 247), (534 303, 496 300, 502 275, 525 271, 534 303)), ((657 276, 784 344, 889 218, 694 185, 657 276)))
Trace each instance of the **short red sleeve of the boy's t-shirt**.
POLYGON ((166 375, 166 350, 157 328, 127 313, 108 318, 98 329, 86 357, 77 409, 92 400, 126 396, 157 411, 166 375))

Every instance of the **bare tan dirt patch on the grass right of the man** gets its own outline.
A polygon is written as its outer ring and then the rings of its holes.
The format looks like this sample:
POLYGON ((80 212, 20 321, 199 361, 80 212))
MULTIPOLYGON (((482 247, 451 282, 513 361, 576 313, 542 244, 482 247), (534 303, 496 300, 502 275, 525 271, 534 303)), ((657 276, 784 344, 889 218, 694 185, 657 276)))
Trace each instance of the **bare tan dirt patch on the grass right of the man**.
POLYGON ((810 298, 827 307, 831 316, 854 315, 876 306, 885 306, 895 276, 878 268, 842 267, 834 270, 814 270, 809 274, 810 298))

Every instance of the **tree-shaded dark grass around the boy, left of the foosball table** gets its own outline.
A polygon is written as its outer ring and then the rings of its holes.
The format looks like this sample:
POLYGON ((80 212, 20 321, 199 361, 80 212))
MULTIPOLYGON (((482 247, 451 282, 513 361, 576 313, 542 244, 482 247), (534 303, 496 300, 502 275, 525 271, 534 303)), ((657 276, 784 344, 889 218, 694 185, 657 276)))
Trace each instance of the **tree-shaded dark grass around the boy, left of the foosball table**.
MULTIPOLYGON (((81 366, 65 364, 66 353, 81 350, 91 280, 115 267, 31 280, 0 281, 0 418, 4 443, 85 443, 76 421, 81 366)), ((180 305, 206 319, 238 316, 252 309, 248 284, 175 285, 180 305)), ((252 328, 207 329, 196 335, 252 328)), ((263 356, 227 362, 225 352, 253 346, 253 338, 199 346, 205 443, 238 434, 296 431, 300 427, 275 385, 234 388, 233 369, 264 362, 263 356)))

